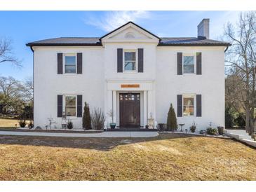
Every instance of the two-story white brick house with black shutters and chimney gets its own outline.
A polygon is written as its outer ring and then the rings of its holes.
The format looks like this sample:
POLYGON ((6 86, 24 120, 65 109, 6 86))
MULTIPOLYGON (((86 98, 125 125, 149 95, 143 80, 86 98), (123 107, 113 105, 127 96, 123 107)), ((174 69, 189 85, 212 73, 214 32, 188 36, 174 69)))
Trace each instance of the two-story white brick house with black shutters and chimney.
POLYGON ((34 52, 34 125, 62 114, 82 128, 84 102, 114 112, 118 127, 166 123, 170 103, 189 128, 224 126, 224 50, 209 39, 209 20, 197 37, 160 38, 128 22, 100 38, 61 37, 28 43, 34 52))

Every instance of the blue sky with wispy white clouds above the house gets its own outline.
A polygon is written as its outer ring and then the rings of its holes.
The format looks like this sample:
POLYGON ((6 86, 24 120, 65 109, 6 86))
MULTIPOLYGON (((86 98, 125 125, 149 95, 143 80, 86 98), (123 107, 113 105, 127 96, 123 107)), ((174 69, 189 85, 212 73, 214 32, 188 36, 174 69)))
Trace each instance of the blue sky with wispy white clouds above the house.
POLYGON ((234 23, 236 11, 0 11, 0 38, 12 39, 22 68, 0 64, 0 76, 23 80, 32 76, 33 55, 25 44, 60 36, 103 36, 132 20, 160 36, 196 36, 196 26, 210 18, 210 39, 219 39, 224 24, 234 23))

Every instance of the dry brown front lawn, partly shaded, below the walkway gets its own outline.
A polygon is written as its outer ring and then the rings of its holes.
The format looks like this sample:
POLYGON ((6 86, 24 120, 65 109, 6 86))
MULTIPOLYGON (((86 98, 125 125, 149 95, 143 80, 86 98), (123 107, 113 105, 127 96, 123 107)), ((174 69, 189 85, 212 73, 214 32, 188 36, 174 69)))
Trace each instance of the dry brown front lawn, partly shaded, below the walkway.
POLYGON ((0 137, 0 180, 255 179, 255 149, 231 139, 0 137))

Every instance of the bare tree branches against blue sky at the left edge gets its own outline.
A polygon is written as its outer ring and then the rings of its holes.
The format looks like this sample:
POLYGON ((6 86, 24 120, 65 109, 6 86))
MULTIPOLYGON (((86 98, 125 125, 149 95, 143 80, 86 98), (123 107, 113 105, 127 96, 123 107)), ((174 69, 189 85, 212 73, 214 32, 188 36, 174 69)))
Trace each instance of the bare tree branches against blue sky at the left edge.
POLYGON ((21 67, 21 61, 13 55, 11 40, 0 39, 0 64, 10 62, 15 66, 21 67))

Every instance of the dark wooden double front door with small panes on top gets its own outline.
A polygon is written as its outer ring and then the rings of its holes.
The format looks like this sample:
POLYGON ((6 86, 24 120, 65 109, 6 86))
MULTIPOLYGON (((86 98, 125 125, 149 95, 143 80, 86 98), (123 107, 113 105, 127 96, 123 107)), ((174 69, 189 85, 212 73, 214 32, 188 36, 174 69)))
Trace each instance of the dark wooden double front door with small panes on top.
POLYGON ((140 93, 119 94, 120 127, 140 126, 140 93))

